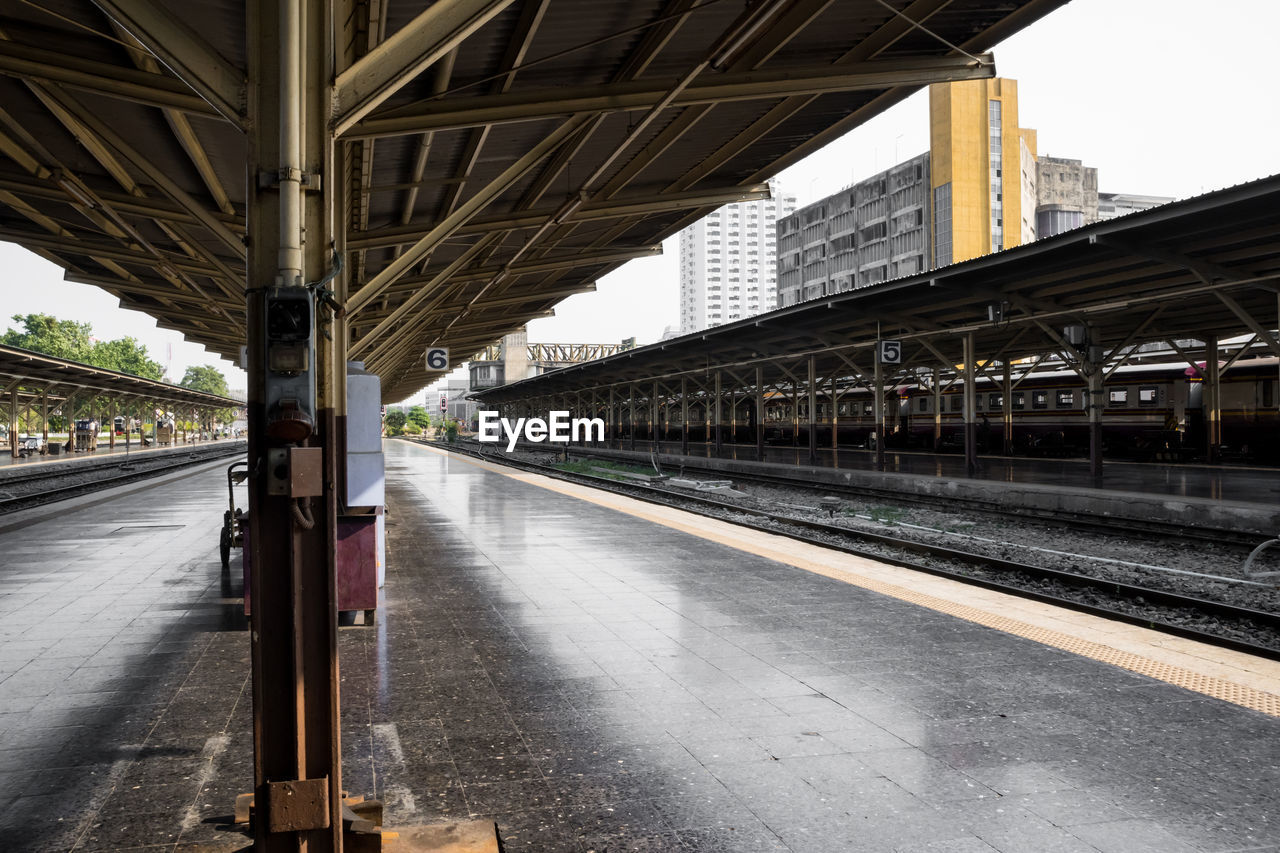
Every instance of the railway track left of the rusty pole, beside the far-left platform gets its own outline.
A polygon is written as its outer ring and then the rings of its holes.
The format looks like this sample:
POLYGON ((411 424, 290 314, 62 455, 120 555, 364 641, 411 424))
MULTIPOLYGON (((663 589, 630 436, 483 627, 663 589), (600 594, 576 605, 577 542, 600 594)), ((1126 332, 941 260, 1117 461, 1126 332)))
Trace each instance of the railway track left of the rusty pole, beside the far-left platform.
POLYGON ((160 476, 202 462, 241 456, 244 453, 244 442, 225 442, 187 453, 104 459, 96 460, 100 464, 88 467, 69 465, 47 470, 49 466, 42 466, 44 470, 10 474, 0 480, 0 516, 160 476))

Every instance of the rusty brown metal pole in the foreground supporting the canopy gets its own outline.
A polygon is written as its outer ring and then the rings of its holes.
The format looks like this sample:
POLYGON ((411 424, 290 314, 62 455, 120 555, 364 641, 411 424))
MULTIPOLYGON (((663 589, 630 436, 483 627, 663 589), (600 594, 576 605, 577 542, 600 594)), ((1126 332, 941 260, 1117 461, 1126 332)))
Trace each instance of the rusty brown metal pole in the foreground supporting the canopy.
MULTIPOLYGON (((334 24, 329 0, 251 0, 246 24, 255 849, 325 853, 342 849, 334 543, 346 324, 330 318, 319 334, 316 310, 310 333, 288 338, 291 351, 315 345, 306 378, 270 370, 284 338, 269 351, 268 315, 305 319, 315 302, 303 283, 324 279, 343 250, 328 127, 334 24), (311 412, 283 398, 269 409, 287 375, 311 412)), ((332 284, 340 300, 340 277, 332 284)))

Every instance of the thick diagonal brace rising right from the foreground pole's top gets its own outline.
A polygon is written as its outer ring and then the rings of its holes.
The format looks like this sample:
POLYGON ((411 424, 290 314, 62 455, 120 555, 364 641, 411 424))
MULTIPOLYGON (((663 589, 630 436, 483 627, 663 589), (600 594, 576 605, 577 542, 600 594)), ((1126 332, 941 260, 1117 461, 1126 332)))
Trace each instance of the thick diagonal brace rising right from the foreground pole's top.
POLYGON ((436 0, 394 36, 338 74, 334 83, 334 132, 344 133, 512 1, 436 0))

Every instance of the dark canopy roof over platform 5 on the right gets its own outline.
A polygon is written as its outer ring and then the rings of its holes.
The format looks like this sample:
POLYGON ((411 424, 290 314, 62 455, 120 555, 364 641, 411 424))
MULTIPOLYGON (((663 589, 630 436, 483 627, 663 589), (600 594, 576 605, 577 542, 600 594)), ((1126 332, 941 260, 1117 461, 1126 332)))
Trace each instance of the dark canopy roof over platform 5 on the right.
POLYGON ((486 403, 817 356, 823 377, 870 369, 877 338, 904 341, 904 366, 959 365, 964 333, 982 360, 1079 355, 1069 324, 1124 355, 1149 341, 1261 334, 1280 311, 1280 175, 1079 228, 1048 240, 823 297, 475 396, 486 403), (1000 305, 1002 319, 989 319, 1000 305))

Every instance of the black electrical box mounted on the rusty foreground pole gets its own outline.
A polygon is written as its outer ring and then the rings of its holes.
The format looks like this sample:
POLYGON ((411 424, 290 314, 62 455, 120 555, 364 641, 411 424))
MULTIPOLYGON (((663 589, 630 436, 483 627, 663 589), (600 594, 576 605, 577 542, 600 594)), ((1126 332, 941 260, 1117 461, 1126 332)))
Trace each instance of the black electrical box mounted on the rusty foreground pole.
POLYGON ((266 433, 305 441, 316 416, 315 301, 311 291, 278 287, 266 298, 266 433))

